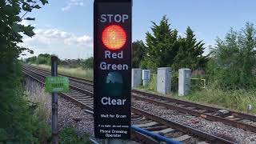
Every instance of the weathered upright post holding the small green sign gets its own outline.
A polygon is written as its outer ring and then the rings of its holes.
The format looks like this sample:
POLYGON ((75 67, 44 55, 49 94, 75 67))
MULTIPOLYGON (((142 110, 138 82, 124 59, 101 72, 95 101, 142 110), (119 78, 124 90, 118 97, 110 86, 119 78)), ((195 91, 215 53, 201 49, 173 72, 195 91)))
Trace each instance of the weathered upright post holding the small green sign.
MULTIPOLYGON (((51 57, 51 76, 58 76, 58 58, 55 56, 51 57)), ((52 143, 58 144, 58 94, 52 93, 52 117, 51 117, 51 136, 53 138, 52 143)))

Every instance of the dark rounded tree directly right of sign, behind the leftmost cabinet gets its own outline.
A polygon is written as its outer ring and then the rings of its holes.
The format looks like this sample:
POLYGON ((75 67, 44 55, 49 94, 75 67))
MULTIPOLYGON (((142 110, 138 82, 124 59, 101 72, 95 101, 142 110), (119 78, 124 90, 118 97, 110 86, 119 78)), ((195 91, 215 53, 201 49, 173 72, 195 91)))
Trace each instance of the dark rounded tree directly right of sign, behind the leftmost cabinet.
POLYGON ((131 49, 131 65, 134 68, 138 68, 142 62, 142 58, 145 52, 145 45, 142 41, 136 41, 132 43, 131 49))

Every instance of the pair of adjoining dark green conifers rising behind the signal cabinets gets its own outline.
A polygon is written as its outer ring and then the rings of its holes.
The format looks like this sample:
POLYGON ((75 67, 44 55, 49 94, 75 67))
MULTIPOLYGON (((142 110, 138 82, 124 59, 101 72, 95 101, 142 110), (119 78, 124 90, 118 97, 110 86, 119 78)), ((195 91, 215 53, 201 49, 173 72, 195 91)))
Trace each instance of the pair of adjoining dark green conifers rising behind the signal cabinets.
POLYGON ((208 56, 202 56, 205 49, 204 43, 197 42, 194 31, 190 27, 186 30, 186 38, 178 38, 178 30, 170 29, 166 16, 162 18, 159 25, 152 23, 153 34, 146 33, 142 68, 155 70, 157 67, 169 66, 173 70, 182 67, 195 70, 206 66, 208 56))

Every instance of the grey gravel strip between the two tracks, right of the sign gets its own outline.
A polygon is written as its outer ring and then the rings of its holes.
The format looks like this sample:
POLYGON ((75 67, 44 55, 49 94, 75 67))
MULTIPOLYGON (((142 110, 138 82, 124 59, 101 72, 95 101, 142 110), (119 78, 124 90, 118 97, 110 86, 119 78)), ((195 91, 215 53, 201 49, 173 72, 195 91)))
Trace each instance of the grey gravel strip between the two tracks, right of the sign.
POLYGON ((190 114, 179 114, 175 110, 168 110, 165 107, 157 106, 149 102, 132 100, 132 106, 156 114, 162 118, 194 127, 216 136, 229 139, 238 143, 256 143, 256 134, 250 131, 224 125, 222 122, 211 122, 190 114))

